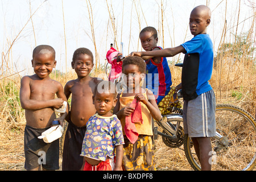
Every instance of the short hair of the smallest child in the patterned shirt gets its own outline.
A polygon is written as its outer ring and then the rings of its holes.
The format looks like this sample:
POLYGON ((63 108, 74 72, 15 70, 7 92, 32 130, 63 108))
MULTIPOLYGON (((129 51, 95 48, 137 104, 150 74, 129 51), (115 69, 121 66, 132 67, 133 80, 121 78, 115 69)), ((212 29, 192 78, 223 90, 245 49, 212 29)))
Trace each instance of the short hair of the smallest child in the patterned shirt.
POLYGON ((114 99, 117 98, 117 87, 112 81, 106 81, 102 80, 99 82, 94 90, 94 96, 96 96, 97 93, 104 93, 104 92, 112 93, 114 96, 114 99))

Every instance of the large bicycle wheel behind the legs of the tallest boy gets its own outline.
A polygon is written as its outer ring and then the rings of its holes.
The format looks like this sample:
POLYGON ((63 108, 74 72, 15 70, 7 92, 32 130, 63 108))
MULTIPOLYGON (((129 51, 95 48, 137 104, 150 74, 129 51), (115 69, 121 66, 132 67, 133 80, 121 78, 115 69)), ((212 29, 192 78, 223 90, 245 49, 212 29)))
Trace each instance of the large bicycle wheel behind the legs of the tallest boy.
MULTIPOLYGON (((211 139, 212 170, 253 170, 256 164, 256 122, 253 116, 237 106, 216 105, 216 131, 224 138, 211 139)), ((184 150, 191 167, 201 170, 192 140, 187 135, 184 150)))

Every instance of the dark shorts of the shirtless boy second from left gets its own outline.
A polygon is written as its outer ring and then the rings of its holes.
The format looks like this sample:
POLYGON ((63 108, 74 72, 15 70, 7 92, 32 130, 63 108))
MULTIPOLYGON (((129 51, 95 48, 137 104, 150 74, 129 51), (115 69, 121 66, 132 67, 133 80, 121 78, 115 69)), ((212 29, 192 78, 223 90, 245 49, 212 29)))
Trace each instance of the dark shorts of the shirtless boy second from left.
POLYGON ((63 147, 63 171, 80 171, 84 157, 80 156, 86 127, 77 127, 71 121, 65 134, 63 147))

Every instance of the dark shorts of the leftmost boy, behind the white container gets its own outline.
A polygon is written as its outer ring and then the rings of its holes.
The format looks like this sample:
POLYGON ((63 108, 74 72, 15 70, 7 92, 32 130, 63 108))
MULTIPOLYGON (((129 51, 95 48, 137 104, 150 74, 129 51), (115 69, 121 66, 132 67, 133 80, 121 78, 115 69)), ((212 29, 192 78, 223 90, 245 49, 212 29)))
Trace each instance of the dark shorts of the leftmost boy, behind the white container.
POLYGON ((24 130, 25 169, 31 170, 42 165, 44 169, 59 169, 59 139, 46 143, 38 137, 49 127, 35 129, 27 126, 24 130))

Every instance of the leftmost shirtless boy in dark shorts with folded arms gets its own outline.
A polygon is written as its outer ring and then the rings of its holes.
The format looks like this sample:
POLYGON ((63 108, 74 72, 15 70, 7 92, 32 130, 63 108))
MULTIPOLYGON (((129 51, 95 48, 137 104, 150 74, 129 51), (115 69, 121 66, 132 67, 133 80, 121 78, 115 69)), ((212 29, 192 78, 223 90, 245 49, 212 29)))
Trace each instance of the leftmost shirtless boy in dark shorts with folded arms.
MULTIPOLYGON (((37 46, 32 55, 35 75, 24 76, 20 81, 20 104, 25 109, 24 130, 25 169, 59 169, 59 139, 45 143, 38 137, 51 127, 56 119, 54 108, 59 109, 67 101, 63 86, 49 75, 56 66, 55 50, 48 45, 37 46), (55 99, 55 94, 58 97, 55 99), (42 157, 42 161, 39 159, 42 157)), ((68 113, 61 114, 60 124, 68 113)))

